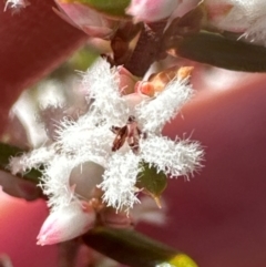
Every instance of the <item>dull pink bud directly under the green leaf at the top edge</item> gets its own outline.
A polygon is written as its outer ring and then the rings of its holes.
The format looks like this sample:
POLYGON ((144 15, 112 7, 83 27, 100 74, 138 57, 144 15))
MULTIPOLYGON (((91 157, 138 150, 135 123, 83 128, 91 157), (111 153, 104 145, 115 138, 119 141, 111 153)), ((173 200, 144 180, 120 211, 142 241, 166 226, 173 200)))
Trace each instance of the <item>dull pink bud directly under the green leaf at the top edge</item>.
POLYGON ((117 21, 105 18, 85 4, 62 0, 54 1, 59 7, 59 10, 54 9, 54 11, 90 37, 109 39, 117 29, 117 21))

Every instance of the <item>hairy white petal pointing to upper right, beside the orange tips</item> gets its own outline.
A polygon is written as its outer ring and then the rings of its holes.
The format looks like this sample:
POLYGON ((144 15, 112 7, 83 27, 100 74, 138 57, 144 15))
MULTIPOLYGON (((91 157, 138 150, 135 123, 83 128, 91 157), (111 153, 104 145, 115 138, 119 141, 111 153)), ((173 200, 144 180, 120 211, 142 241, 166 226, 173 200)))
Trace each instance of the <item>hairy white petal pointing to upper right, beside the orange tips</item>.
POLYGON ((181 107, 191 99, 193 90, 187 80, 171 81, 165 90, 154 100, 141 103, 137 109, 137 119, 143 130, 161 132, 164 124, 173 119, 181 107))

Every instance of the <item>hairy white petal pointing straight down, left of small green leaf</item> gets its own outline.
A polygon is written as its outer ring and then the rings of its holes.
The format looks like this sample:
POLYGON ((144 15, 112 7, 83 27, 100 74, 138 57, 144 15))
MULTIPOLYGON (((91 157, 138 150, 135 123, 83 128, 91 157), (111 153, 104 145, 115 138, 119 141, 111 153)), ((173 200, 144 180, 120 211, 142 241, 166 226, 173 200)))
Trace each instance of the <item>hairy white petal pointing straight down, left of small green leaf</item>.
POLYGON ((140 157, 131 151, 114 153, 99 185, 104 191, 103 202, 116 209, 129 210, 137 203, 135 192, 136 176, 140 173, 140 157))

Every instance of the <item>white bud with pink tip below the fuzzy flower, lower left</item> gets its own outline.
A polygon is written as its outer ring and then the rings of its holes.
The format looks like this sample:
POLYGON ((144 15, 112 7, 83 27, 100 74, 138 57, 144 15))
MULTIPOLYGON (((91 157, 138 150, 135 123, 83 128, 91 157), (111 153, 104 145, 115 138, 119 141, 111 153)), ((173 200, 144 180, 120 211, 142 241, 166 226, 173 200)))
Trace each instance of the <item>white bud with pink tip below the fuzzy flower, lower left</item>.
POLYGON ((94 226, 95 212, 86 203, 72 202, 51 213, 37 237, 38 245, 52 245, 72 239, 94 226))

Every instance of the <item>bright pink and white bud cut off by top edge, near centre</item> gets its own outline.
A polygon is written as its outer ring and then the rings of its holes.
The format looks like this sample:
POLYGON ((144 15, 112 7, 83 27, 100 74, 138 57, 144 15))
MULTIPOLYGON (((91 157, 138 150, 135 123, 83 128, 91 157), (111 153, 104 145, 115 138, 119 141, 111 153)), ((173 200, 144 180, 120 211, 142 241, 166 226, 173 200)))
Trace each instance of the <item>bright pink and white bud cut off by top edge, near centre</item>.
POLYGON ((180 0, 132 0, 126 13, 135 21, 154 22, 170 17, 180 0))

